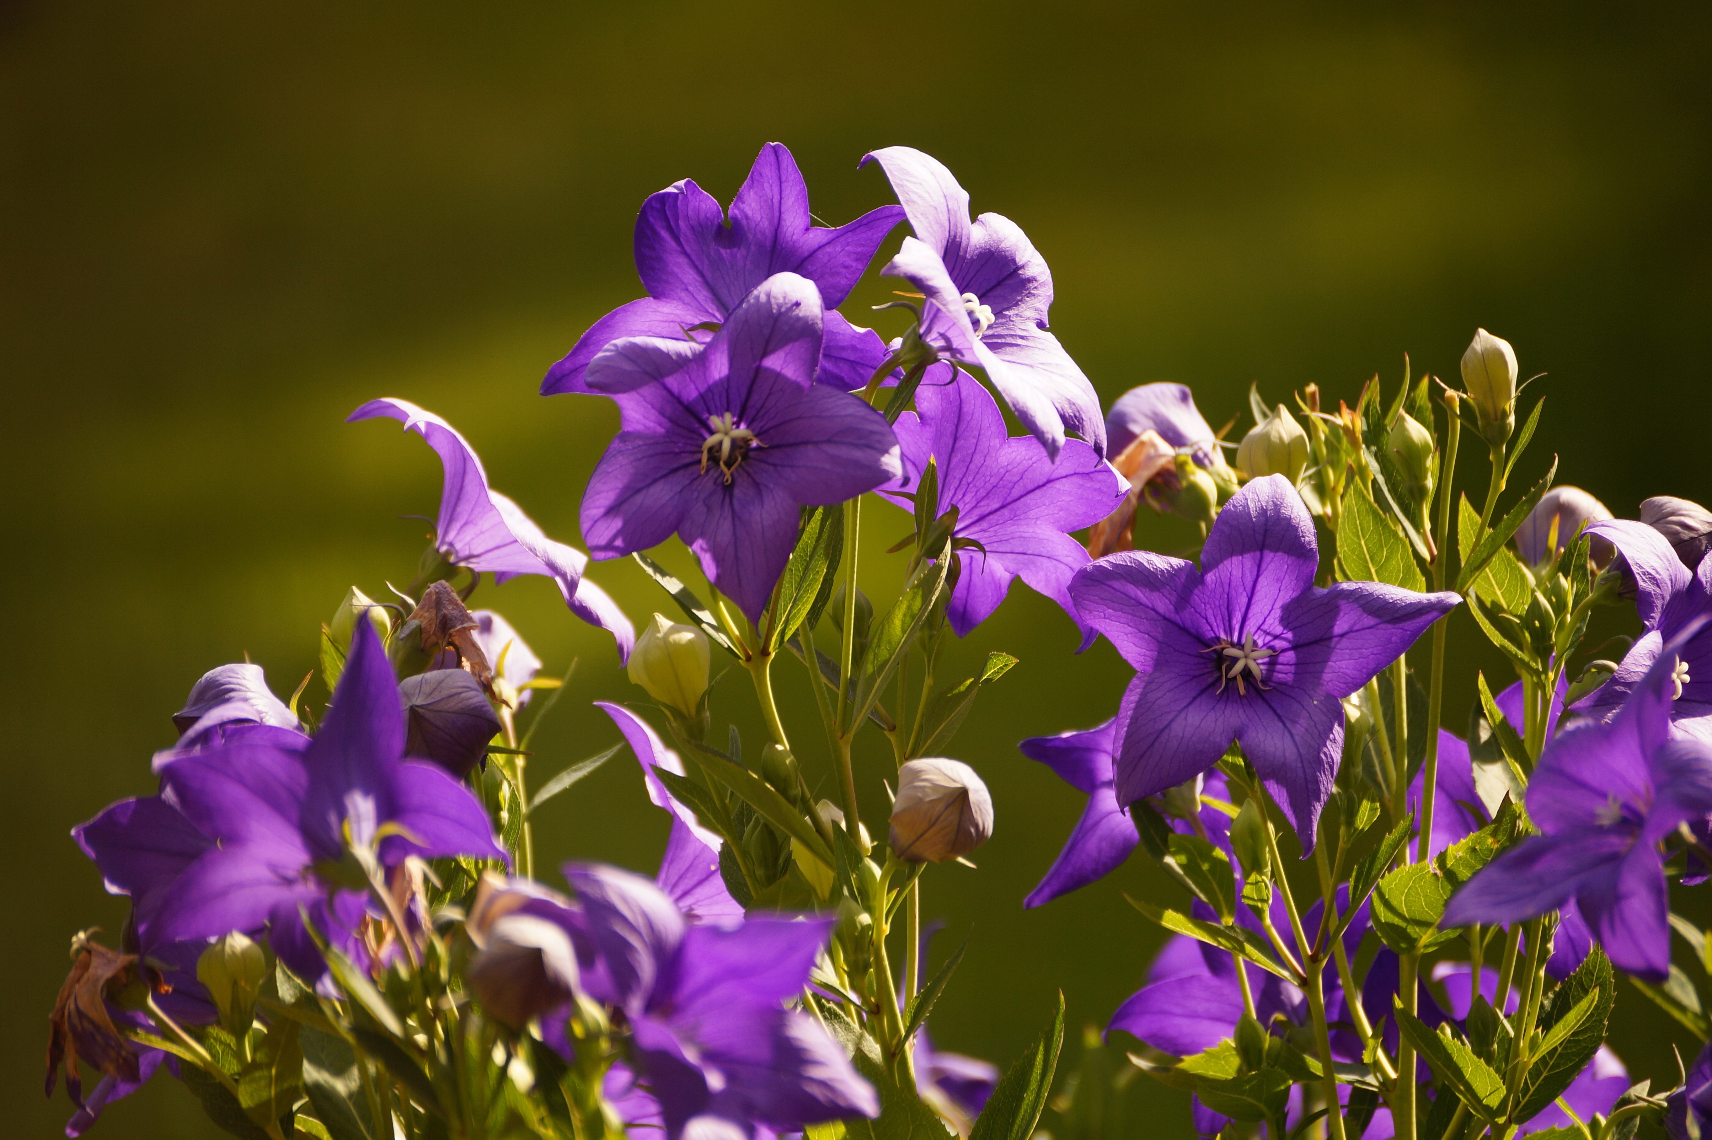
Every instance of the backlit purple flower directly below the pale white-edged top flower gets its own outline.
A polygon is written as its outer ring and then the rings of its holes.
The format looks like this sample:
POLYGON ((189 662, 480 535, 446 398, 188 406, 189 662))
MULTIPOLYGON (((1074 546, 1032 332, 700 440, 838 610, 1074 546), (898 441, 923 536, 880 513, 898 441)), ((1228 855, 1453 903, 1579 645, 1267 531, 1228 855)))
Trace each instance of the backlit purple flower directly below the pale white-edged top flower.
MULTIPOLYGON (((1032 440, 1007 438, 998 401, 962 370, 950 383, 921 385, 916 407, 919 416, 904 413, 897 421, 899 490, 919 490, 931 457, 938 508, 957 508, 954 537, 979 543, 955 555, 957 587, 945 613, 957 637, 986 621, 1017 577, 1075 618, 1070 579, 1089 555, 1068 532, 1109 515, 1128 491, 1123 478, 1087 443, 1067 442, 1053 462, 1032 440)), ((912 507, 887 491, 882 498, 912 507)), ((1085 649, 1094 633, 1077 625, 1085 649)))

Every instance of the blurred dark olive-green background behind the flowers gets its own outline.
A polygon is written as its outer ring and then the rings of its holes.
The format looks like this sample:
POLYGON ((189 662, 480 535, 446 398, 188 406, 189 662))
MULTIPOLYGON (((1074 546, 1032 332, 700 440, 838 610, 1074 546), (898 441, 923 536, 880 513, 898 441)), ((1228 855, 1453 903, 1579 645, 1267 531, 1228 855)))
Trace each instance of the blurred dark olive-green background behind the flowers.
MULTIPOLYGON (((1395 383, 1406 351, 1453 377, 1484 325, 1525 375, 1549 373, 1519 478, 1558 450, 1565 481, 1633 515, 1647 495, 1712 495, 1695 442, 1707 33, 1707 9, 1686 3, 5 0, 9 1135, 67 1118, 39 1084, 67 938, 123 921, 67 828, 151 791, 151 750, 204 669, 248 652, 289 693, 348 585, 411 577, 425 527, 397 515, 433 512, 438 464, 344 414, 375 395, 445 414, 496 488, 579 541, 616 418, 536 389, 639 294, 630 228, 647 193, 693 176, 728 200, 777 139, 815 212, 844 223, 889 200, 878 171, 856 169, 865 151, 923 147, 1048 257, 1055 330, 1104 399, 1183 380, 1216 426, 1251 380, 1272 399, 1315 382, 1335 406, 1375 371, 1395 383)), ((847 312, 861 320, 887 288, 870 281, 847 312)), ((904 531, 889 510, 866 515, 875 551, 904 531)), ((594 579, 639 623, 664 608, 633 565, 594 579)), ((474 601, 550 669, 582 662, 538 738, 538 779, 613 743, 587 702, 639 690, 611 642, 539 579, 474 601)), ((1508 673, 1465 620, 1453 645, 1457 727, 1474 668, 1508 673)), ((1126 669, 1106 645, 1072 656, 1068 620, 1022 585, 959 654, 986 649, 1022 659, 959 743, 998 828, 979 871, 928 875, 926 912, 950 921, 942 943, 974 931, 938 1042, 1007 1063, 1055 988, 1082 1025, 1137 986, 1157 935, 1118 892, 1169 888, 1137 859, 1022 911, 1080 796, 1014 745, 1108 717, 1126 669)), ((728 688, 716 715, 758 743, 750 695, 728 688)), ((801 674, 786 669, 784 690, 823 772, 801 674)), ((865 765, 878 818, 878 741, 865 765)), ((623 757, 543 810, 538 835, 548 866, 652 870, 666 822, 623 757)), ((1669 1084, 1673 1041, 1698 1046, 1625 986, 1613 1044, 1632 1068, 1669 1084)), ((1130 1121, 1186 1135, 1186 1101, 1140 1082, 1130 1121)), ((212 1133, 168 1082, 99 1128, 212 1133)))

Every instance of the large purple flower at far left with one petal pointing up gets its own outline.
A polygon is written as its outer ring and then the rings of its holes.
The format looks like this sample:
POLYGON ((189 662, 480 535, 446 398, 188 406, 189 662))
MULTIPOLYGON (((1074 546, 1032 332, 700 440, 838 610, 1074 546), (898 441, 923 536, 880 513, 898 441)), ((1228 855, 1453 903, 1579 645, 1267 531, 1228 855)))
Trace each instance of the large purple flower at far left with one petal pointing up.
POLYGON ((346 861, 348 844, 389 870, 411 854, 505 858, 467 789, 404 760, 399 688, 370 623, 356 623, 320 733, 270 733, 166 753, 159 796, 116 803, 74 832, 108 890, 132 895, 144 940, 267 926, 281 960, 318 979, 325 964, 298 907, 329 940, 354 945, 365 894, 318 876, 346 861))

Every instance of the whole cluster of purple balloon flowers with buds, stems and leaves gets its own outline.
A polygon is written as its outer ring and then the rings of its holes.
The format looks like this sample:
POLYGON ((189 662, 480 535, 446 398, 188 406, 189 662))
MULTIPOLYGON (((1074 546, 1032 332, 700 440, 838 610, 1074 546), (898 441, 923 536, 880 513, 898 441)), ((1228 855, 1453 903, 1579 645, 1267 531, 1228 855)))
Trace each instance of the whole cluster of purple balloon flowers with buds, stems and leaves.
POLYGON ((1486 330, 1460 389, 1406 377, 1387 399, 1375 378, 1335 413, 1317 385, 1251 390, 1236 443, 1176 383, 1103 413, 1022 229, 971 219, 919 151, 861 163, 899 204, 837 228, 779 144, 729 211, 688 180, 642 205, 647 296, 541 385, 618 409, 580 498, 587 553, 440 416, 351 414, 438 455, 428 548, 407 591, 346 592, 318 688, 281 700, 255 664, 212 669, 171 715, 158 793, 74 828, 130 917, 116 947, 74 938, 50 1018, 68 1135, 163 1066, 219 1126, 272 1140, 1029 1137, 1048 1107, 1094 1138, 1137 1072, 1188 1092, 1209 1138, 1712 1126, 1712 1051, 1652 1092, 1604 1046, 1618 971, 1712 1036, 1671 960, 1673 931, 1712 960, 1671 911, 1671 880, 1712 868, 1712 514, 1661 496, 1614 519, 1554 466, 1508 495, 1539 404, 1517 431, 1517 356, 1486 330), (909 313, 882 339, 841 308, 902 223, 880 274, 914 291, 878 306, 909 313), (1455 495, 1464 428, 1491 459, 1481 510, 1455 495), (909 524, 882 604, 865 508, 909 524), (620 558, 675 604, 640 635, 591 575, 620 558), (483 575, 548 579, 637 686, 597 702, 616 739, 534 784, 568 674, 469 609, 483 575), (1092 888, 1137 849, 1173 883, 1130 899, 1169 936, 1056 1097, 1061 1000, 1003 1077, 926 1025, 962 952, 928 969, 923 911, 1005 808, 983 769, 1007 762, 959 757, 957 731, 1017 666, 947 676, 945 649, 1017 579, 1063 611, 1065 650, 1073 630, 1133 669, 1104 724, 1019 746, 1087 796, 1019 900, 1092 888), (1630 604, 1640 637, 1592 657, 1594 613, 1630 604), (1496 697, 1479 678, 1465 734, 1442 724, 1450 621, 1519 676, 1496 697), (818 733, 776 698, 791 661, 818 733), (726 676, 765 739, 710 733, 726 676), (793 746, 811 738, 823 755, 793 746), (570 863, 543 883, 536 810, 621 751, 669 816, 657 873, 570 863))

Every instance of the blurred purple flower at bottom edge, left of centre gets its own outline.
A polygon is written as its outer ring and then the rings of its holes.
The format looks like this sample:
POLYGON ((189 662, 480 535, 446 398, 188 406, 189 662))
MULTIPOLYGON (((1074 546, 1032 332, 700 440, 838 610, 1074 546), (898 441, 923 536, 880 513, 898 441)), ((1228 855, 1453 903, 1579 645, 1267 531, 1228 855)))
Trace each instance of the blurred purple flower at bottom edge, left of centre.
POLYGON ((830 919, 690 924, 649 880, 568 864, 582 907, 584 988, 623 1010, 632 1054, 673 1140, 702 1125, 748 1135, 878 1116, 873 1089, 810 1015, 808 983, 830 919))

